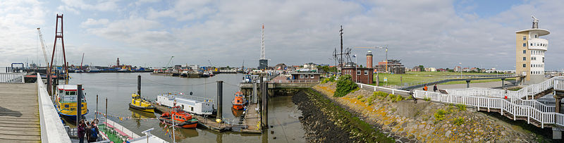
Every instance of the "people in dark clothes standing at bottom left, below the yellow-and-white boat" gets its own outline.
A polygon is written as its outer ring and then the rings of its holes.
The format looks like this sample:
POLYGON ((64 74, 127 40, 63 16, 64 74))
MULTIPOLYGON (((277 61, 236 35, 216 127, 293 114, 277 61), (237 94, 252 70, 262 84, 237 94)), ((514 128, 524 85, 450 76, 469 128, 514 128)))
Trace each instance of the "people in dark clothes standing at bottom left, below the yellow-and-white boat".
POLYGON ((80 120, 78 122, 78 139, 80 143, 84 143, 84 137, 86 135, 87 142, 97 142, 98 139, 98 119, 94 119, 91 122, 80 120))

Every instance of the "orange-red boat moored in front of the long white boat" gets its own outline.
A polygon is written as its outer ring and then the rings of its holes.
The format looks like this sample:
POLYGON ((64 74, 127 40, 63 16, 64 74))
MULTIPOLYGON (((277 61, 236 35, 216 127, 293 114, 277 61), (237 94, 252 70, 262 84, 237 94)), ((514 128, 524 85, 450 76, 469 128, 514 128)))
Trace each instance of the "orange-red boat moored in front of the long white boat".
POLYGON ((176 127, 179 128, 196 128, 198 125, 198 120, 196 118, 192 118, 190 113, 187 113, 180 109, 179 106, 175 106, 172 108, 173 111, 165 112, 159 117, 161 122, 166 124, 174 124, 176 127))

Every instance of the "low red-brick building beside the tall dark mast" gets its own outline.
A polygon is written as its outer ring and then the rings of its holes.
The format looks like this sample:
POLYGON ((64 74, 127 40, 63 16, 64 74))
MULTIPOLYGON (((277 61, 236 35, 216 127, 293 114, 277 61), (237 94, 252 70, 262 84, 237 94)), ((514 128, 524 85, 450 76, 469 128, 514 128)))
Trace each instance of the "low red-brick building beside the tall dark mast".
POLYGON ((354 82, 360 82, 364 84, 372 84, 374 73, 372 73, 373 68, 358 68, 358 67, 343 67, 343 75, 350 75, 351 80, 354 82))

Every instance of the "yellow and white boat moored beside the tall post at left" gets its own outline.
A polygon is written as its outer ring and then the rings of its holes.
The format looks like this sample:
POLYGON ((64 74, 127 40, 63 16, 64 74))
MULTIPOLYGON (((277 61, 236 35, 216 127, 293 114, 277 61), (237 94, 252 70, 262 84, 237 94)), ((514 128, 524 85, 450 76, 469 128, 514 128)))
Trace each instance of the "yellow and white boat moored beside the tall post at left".
MULTIPOLYGON (((77 85, 57 85, 57 92, 55 94, 55 109, 64 118, 76 120, 76 105, 77 105, 77 85)), ((84 88, 82 88, 84 91, 84 88)), ((86 95, 86 94, 84 94, 86 95)), ((82 96, 82 110, 81 116, 88 113, 88 107, 85 96, 82 96)))

